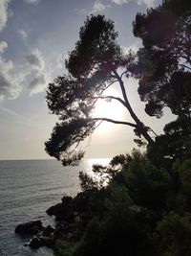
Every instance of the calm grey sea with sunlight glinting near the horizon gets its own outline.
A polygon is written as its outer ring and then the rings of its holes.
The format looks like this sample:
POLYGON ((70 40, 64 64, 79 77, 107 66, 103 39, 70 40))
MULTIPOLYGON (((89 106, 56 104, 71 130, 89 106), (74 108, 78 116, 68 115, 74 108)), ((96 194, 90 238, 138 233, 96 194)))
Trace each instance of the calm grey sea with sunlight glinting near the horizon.
POLYGON ((86 159, 77 167, 63 167, 56 160, 0 161, 0 256, 52 256, 45 246, 32 249, 30 237, 14 233, 18 224, 27 221, 54 226, 54 219, 46 214, 64 196, 74 197, 80 192, 79 171, 91 175, 93 164, 107 164, 109 158, 86 159))

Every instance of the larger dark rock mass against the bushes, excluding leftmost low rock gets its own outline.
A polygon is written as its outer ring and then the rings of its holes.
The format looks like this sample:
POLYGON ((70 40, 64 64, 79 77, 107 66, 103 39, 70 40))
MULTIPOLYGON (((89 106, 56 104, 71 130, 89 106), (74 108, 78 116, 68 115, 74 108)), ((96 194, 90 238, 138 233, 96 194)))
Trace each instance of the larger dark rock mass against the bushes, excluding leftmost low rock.
POLYGON ((41 244, 52 247, 56 240, 78 242, 96 212, 96 195, 94 190, 81 192, 75 198, 63 197, 61 203, 50 207, 47 214, 55 216, 56 225, 54 230, 47 226, 38 234, 41 244))

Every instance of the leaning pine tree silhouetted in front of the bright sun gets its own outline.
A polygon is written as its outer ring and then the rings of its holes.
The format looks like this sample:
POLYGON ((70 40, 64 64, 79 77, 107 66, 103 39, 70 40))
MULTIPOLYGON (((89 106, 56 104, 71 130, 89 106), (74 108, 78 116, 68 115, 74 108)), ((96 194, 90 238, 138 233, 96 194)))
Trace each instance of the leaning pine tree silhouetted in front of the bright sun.
POLYGON ((128 78, 135 66, 134 54, 123 54, 117 44, 114 22, 103 15, 87 17, 79 40, 66 60, 68 74, 49 84, 47 103, 60 121, 45 143, 51 156, 62 160, 63 165, 77 163, 84 152, 77 152, 76 147, 103 121, 130 126, 149 144, 154 142, 149 134, 151 129, 138 119, 127 97, 123 78, 128 78), (116 82, 122 97, 104 95, 116 82), (93 117, 92 110, 98 99, 117 101, 129 111, 133 122, 93 117))

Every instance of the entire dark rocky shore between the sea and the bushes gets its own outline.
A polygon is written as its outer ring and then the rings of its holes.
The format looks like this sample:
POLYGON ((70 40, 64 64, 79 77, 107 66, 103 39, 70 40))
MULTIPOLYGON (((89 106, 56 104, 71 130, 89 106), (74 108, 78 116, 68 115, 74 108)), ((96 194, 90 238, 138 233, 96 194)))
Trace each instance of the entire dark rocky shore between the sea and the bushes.
POLYGON ((56 241, 75 243, 80 240, 88 221, 95 212, 94 191, 78 193, 75 198, 63 197, 47 210, 47 214, 55 217, 55 228, 43 226, 41 221, 29 221, 19 224, 15 233, 20 236, 32 236, 29 244, 32 248, 40 246, 53 247, 56 241))

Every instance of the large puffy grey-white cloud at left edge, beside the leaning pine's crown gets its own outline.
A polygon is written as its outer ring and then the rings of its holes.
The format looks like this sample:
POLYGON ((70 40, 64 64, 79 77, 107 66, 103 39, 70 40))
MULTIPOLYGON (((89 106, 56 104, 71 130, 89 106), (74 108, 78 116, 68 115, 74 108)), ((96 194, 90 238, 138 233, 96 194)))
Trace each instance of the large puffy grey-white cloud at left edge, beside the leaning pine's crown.
MULTIPOLYGON (((1 53, 7 48, 7 43, 0 42, 1 53)), ((42 53, 34 49, 27 56, 26 61, 19 67, 15 67, 11 60, 0 56, 0 99, 16 99, 24 90, 30 94, 44 91, 50 81, 50 75, 46 67, 42 53)))

